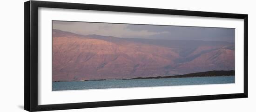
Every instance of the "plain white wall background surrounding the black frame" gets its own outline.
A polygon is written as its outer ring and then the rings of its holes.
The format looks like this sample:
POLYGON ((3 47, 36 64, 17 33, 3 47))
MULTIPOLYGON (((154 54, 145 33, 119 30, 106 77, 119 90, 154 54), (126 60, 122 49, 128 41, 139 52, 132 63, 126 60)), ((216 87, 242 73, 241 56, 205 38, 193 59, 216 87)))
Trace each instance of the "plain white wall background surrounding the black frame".
MULTIPOLYGON (((249 98, 131 105, 54 112, 256 112, 256 11, 254 0, 51 0, 132 7, 249 14, 249 98)), ((24 107, 24 4, 0 3, 0 112, 25 112, 24 107)))

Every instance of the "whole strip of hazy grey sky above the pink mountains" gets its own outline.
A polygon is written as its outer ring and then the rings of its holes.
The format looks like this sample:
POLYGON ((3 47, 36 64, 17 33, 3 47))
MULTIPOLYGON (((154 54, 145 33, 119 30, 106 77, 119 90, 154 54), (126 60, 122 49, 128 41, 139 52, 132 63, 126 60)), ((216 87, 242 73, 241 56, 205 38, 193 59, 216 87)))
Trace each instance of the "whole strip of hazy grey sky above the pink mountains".
POLYGON ((97 34, 121 38, 235 41, 234 28, 53 21, 53 29, 82 35, 97 34))

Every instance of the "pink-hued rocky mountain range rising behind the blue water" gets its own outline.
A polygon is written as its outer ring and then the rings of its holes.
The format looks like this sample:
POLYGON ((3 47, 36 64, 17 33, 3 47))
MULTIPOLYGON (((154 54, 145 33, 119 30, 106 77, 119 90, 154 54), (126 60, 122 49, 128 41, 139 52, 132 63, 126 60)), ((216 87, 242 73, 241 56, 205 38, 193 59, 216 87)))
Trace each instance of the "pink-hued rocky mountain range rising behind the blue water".
POLYGON ((79 35, 53 30, 52 80, 129 79, 235 70, 234 43, 79 35))

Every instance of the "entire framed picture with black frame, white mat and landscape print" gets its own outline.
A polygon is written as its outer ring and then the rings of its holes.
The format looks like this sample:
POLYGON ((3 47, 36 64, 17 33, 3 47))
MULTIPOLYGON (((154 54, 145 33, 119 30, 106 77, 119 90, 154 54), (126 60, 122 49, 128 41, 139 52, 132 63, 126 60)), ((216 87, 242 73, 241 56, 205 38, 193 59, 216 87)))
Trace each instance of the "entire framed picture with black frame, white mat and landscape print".
POLYGON ((247 14, 25 2, 27 111, 247 97, 247 14))

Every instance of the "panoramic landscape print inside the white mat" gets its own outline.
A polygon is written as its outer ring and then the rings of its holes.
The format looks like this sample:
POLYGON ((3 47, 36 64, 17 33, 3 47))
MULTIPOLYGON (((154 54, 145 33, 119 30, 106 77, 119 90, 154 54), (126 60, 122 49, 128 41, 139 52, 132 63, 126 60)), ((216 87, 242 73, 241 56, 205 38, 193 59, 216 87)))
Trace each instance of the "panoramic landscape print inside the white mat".
POLYGON ((52 91, 235 83, 235 29, 52 21, 52 91))

